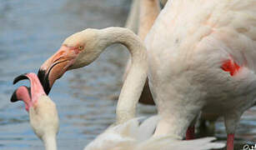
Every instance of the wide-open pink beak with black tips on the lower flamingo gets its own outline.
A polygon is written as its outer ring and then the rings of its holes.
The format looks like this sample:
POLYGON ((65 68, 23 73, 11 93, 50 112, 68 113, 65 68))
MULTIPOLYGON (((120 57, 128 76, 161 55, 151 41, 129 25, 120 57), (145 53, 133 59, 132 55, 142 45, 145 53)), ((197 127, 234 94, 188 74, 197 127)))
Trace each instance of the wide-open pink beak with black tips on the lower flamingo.
POLYGON ((13 92, 11 102, 23 101, 25 103, 26 110, 29 111, 29 108, 33 107, 33 105, 38 101, 38 97, 46 95, 46 93, 43 91, 43 87, 35 73, 20 75, 13 80, 13 84, 24 79, 30 80, 31 87, 18 87, 18 89, 13 92))

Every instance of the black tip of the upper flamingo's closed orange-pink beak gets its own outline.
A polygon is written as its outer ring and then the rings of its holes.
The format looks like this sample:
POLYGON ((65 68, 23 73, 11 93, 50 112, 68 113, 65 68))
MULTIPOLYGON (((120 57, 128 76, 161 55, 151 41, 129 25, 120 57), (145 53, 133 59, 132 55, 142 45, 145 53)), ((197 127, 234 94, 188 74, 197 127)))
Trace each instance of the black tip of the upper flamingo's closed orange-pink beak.
POLYGON ((48 73, 45 70, 39 69, 38 70, 38 78, 43 86, 44 92, 48 95, 51 91, 51 87, 48 80, 48 73))

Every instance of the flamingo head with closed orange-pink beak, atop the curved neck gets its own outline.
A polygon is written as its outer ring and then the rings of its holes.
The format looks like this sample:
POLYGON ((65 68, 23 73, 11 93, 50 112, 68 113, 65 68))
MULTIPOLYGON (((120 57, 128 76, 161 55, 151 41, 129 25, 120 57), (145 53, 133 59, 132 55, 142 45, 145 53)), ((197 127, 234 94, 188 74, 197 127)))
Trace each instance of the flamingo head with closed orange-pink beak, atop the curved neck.
POLYGON ((53 83, 71 69, 87 66, 102 52, 98 30, 86 29, 66 38, 58 51, 39 68, 38 77, 48 94, 53 83))

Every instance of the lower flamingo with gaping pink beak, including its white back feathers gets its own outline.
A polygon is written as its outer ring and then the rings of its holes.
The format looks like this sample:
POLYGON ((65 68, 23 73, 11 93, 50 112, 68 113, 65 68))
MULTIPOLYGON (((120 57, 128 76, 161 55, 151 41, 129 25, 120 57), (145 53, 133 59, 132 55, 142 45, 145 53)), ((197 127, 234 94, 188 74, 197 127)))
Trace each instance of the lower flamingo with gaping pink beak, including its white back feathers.
MULTIPOLYGON (((31 88, 18 87, 13 92, 12 102, 21 100, 29 112, 30 124, 34 133, 43 141, 46 150, 57 150, 58 111, 55 103, 43 91, 34 73, 23 74, 13 83, 28 78, 31 88)), ((204 150, 223 148, 223 143, 211 143, 215 138, 201 138, 193 141, 178 141, 171 137, 152 138, 158 117, 150 117, 139 125, 134 118, 123 124, 113 125, 89 143, 85 150, 155 150, 155 149, 194 149, 204 150)))

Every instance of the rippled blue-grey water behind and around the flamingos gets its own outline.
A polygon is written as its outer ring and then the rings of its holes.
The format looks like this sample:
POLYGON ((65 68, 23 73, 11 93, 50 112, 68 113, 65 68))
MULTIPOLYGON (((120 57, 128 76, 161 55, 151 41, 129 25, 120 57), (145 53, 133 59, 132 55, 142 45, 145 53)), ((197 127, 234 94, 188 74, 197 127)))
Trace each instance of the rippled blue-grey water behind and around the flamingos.
MULTIPOLYGON (((0 149, 43 149, 28 122, 22 102, 11 103, 13 78, 38 72, 63 40, 84 28, 123 27, 129 0, 1 0, 0 1, 0 149)), ((108 47, 88 67, 69 71, 53 86, 50 97, 60 116, 58 148, 83 149, 114 122, 116 102, 128 52, 108 47)), ((256 142, 256 110, 243 115, 237 147, 256 142)), ((216 134, 225 141, 222 120, 216 134)))

